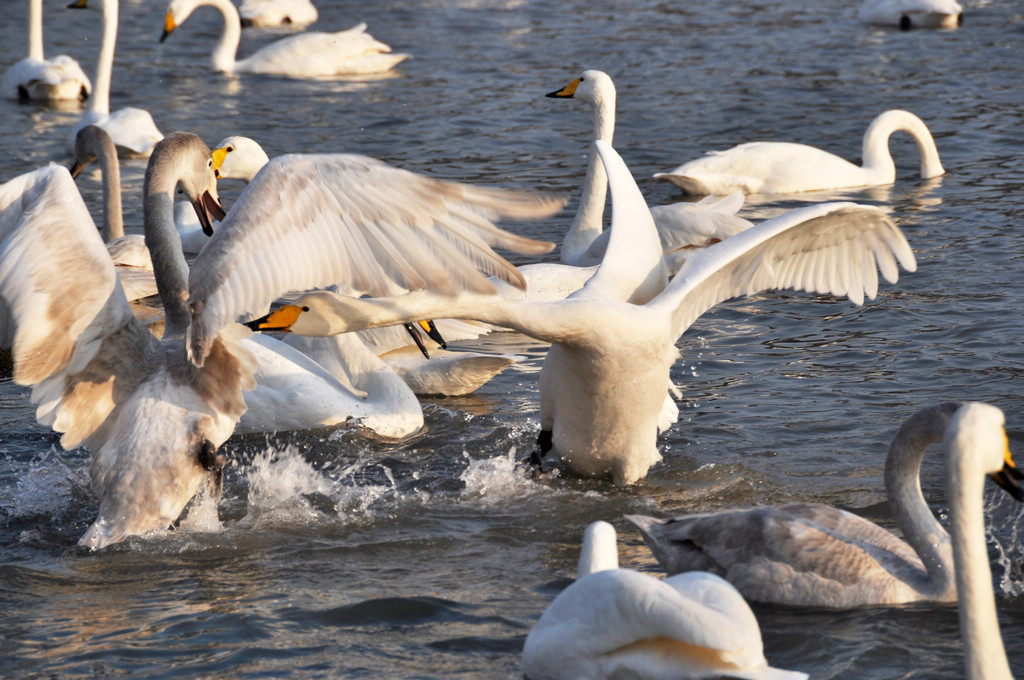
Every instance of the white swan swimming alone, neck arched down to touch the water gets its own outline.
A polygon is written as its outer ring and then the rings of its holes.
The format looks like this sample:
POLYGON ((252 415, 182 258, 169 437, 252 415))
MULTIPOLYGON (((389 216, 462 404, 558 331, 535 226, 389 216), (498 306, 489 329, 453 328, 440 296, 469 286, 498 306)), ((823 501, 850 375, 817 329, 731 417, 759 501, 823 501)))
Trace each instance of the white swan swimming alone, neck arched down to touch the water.
POLYGON ((918 142, 921 176, 938 177, 945 170, 939 162, 932 133, 907 111, 892 109, 879 114, 864 132, 863 166, 828 152, 785 141, 751 141, 724 152, 684 163, 654 176, 687 194, 791 194, 819 189, 891 184, 896 165, 889 153, 889 137, 903 131, 918 142))

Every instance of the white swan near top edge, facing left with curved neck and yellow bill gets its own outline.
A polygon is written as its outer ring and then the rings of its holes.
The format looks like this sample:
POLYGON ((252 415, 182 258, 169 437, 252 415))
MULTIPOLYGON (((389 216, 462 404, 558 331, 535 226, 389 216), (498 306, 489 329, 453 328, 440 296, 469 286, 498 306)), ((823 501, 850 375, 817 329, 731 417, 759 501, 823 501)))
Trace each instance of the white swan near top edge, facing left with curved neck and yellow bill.
POLYGON ((224 17, 224 31, 213 51, 214 71, 221 73, 260 73, 291 78, 324 76, 366 76, 393 69, 408 54, 391 48, 367 33, 366 24, 357 24, 337 33, 299 33, 283 38, 253 55, 236 60, 242 23, 231 0, 172 0, 164 19, 163 42, 197 7, 209 5, 224 17))

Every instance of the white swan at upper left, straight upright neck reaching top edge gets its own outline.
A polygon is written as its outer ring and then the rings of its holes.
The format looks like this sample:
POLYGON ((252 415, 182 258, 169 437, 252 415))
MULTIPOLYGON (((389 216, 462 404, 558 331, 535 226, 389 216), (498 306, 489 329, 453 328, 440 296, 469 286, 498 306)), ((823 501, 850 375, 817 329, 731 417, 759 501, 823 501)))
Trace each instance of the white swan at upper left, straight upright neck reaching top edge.
POLYGON ((96 61, 95 89, 89 98, 88 109, 68 135, 68 153, 75 153, 79 130, 87 125, 98 125, 114 138, 121 156, 148 156, 154 144, 164 137, 150 112, 129 107, 111 113, 111 78, 118 41, 118 0, 75 0, 69 7, 99 11, 103 16, 103 37, 96 61))

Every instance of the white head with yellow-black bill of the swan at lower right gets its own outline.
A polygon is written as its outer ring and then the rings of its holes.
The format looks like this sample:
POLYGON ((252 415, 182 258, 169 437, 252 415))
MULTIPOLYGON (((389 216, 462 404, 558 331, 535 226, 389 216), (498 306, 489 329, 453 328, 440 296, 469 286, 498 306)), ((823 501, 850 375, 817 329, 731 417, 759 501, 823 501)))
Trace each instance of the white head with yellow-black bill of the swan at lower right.
POLYGON ((1024 472, 1017 469, 1002 412, 988 403, 964 405, 946 428, 946 451, 972 452, 985 474, 1016 500, 1024 502, 1024 472))

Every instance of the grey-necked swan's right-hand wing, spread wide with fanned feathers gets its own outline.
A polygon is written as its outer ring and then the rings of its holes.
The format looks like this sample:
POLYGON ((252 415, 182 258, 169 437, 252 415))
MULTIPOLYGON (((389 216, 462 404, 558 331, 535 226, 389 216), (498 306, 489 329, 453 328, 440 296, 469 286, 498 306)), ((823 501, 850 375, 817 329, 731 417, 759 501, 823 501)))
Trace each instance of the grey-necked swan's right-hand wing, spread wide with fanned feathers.
POLYGON ((489 293, 487 275, 523 288, 492 248, 539 255, 554 246, 494 222, 546 217, 564 203, 440 181, 362 156, 278 157, 193 265, 190 355, 202 364, 220 328, 297 291, 343 285, 370 295, 489 293))

